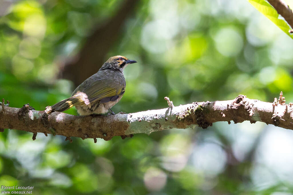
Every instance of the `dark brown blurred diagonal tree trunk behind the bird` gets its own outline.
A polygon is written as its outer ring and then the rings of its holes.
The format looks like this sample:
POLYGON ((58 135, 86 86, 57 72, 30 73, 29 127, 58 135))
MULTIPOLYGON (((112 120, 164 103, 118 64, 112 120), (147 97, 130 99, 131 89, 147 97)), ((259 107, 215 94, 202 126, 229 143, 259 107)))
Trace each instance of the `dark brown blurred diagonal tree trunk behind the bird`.
POLYGON ((77 87, 96 73, 103 65, 105 55, 118 39, 126 18, 134 12, 138 2, 124 1, 110 20, 103 25, 96 25, 96 30, 87 38, 79 53, 60 66, 59 77, 73 81, 77 87))

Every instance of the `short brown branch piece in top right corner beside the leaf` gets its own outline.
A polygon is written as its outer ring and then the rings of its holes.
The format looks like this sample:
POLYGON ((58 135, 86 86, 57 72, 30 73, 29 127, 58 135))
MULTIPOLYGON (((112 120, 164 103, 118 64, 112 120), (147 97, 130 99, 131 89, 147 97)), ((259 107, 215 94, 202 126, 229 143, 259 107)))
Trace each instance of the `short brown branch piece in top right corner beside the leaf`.
POLYGON ((293 13, 289 6, 283 0, 268 0, 268 2, 277 10, 287 23, 293 29, 293 13))

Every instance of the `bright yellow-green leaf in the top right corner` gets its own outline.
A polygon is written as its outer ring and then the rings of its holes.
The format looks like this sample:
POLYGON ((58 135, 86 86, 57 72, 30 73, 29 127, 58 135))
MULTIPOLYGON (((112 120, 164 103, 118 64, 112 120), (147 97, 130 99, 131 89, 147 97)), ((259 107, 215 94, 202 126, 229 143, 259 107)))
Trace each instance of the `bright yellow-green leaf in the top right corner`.
POLYGON ((267 1, 248 0, 248 2, 293 39, 293 34, 289 33, 290 26, 284 20, 278 18, 279 14, 267 1))

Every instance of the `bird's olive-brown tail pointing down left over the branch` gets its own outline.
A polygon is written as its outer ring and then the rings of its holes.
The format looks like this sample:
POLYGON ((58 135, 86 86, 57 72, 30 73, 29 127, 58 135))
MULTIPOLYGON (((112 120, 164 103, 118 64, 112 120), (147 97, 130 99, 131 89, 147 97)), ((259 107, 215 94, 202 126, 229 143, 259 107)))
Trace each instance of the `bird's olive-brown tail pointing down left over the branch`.
POLYGON ((88 104, 88 99, 84 97, 83 94, 75 94, 70 98, 64 99, 58 103, 55 103, 53 106, 47 106, 45 112, 50 114, 52 112, 58 111, 63 112, 71 108, 72 106, 88 104))

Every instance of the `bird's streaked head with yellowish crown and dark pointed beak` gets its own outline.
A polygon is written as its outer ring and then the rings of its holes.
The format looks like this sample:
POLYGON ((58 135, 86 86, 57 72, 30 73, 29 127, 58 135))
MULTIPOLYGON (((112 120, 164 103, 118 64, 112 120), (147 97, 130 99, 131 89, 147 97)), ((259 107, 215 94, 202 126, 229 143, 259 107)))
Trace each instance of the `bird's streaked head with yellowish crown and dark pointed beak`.
POLYGON ((124 56, 113 56, 110 57, 100 68, 100 70, 120 70, 123 71, 123 69, 128 65, 132 63, 137 63, 137 61, 129 60, 124 56))

